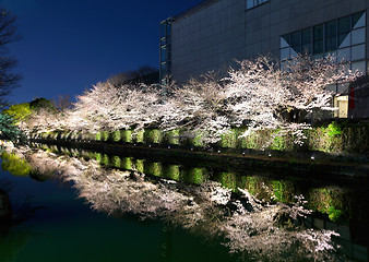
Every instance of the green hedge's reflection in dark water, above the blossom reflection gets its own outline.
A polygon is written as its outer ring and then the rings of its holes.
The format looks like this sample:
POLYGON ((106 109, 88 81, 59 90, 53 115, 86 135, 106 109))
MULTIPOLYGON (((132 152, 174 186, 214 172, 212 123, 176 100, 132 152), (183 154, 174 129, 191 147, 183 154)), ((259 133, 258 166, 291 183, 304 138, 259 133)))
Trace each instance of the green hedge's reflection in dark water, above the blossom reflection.
MULTIPOLYGON (((37 145, 37 144, 35 144, 37 145)), ((329 183, 311 179, 299 179, 298 176, 287 179, 275 176, 259 176, 250 170, 242 174, 226 169, 202 166, 203 163, 180 163, 177 159, 159 160, 141 158, 140 156, 109 156, 104 153, 88 152, 76 148, 67 148, 56 145, 39 144, 49 152, 63 153, 85 159, 96 159, 99 164, 123 170, 135 170, 154 177, 166 178, 179 182, 200 184, 212 180, 223 187, 237 191, 238 188, 247 189, 252 195, 263 201, 293 204, 295 195, 305 195, 307 207, 324 214, 326 219, 334 223, 349 223, 358 221, 369 224, 368 184, 359 183, 349 190, 334 186, 334 179, 329 183), (249 174, 248 174, 249 171, 249 174)), ((266 170, 265 170, 266 172, 266 170)), ((347 187, 346 181, 344 184, 347 187)))

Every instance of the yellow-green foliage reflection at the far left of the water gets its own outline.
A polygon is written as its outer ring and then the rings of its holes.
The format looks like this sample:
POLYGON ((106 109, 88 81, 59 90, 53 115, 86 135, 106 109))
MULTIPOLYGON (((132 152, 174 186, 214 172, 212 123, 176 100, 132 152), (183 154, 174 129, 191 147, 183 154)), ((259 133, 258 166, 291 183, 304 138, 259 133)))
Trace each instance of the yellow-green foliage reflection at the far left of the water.
POLYGON ((23 159, 15 154, 4 152, 2 154, 1 168, 8 170, 13 176, 28 176, 32 167, 26 159, 23 159))

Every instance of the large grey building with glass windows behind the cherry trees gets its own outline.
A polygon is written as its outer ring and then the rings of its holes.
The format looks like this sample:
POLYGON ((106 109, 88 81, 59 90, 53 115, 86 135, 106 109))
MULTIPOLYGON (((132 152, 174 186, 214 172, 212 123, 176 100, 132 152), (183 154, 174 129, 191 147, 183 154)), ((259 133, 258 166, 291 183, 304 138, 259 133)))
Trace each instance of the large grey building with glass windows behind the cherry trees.
MULTIPOLYGON (((317 58, 336 55, 367 73, 368 9, 368 0, 203 1, 160 23, 160 79, 171 75, 181 83, 265 53, 283 67, 305 51, 317 58)), ((342 93, 347 86, 331 88, 342 93)), ((334 103, 341 108, 337 117, 347 116, 348 97, 334 103)), ((360 115, 369 117, 369 108, 360 115)))

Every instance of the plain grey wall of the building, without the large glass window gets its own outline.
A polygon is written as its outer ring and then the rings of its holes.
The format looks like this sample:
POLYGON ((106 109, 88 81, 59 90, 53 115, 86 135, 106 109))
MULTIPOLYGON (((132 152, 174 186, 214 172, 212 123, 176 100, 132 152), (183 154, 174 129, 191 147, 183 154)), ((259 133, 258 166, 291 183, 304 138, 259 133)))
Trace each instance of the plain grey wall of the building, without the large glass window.
POLYGON ((210 70, 224 72, 236 66, 235 59, 261 53, 279 58, 282 35, 369 9, 368 0, 270 0, 250 10, 245 0, 210 2, 172 24, 171 69, 177 82, 210 70))

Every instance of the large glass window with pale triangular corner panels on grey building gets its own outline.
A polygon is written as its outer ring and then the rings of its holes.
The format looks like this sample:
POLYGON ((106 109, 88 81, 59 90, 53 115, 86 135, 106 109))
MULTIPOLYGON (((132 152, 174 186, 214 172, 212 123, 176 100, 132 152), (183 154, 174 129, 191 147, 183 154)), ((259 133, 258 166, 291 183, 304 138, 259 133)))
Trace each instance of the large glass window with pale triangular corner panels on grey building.
POLYGON ((350 61, 350 69, 366 73, 366 12, 281 36, 282 61, 301 52, 316 58, 333 53, 338 62, 350 61))

